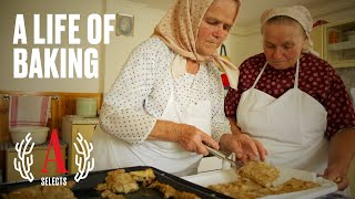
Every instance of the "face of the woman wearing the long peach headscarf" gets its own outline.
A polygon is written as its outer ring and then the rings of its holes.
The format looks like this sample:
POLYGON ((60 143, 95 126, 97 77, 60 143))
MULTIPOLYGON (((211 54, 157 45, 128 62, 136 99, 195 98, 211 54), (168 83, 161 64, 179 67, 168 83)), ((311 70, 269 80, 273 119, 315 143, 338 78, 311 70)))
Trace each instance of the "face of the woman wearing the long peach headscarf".
POLYGON ((196 51, 201 55, 212 55, 226 39, 237 4, 235 0, 214 0, 204 14, 196 40, 196 51))

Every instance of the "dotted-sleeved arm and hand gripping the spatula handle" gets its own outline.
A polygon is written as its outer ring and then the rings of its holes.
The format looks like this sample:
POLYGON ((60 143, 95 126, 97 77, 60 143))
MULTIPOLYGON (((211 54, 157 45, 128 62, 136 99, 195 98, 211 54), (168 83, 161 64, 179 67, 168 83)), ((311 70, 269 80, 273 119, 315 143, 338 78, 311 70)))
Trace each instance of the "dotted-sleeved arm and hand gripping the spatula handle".
MULTIPOLYGON (((219 144, 210 136, 191 125, 156 119, 144 109, 146 98, 156 84, 161 84, 161 81, 155 82, 162 76, 159 71, 166 67, 166 57, 171 55, 168 46, 162 41, 156 42, 156 39, 149 40, 133 51, 104 98, 100 113, 102 129, 130 144, 159 139, 179 143, 189 151, 207 155, 202 143, 219 148, 219 144), (152 51, 152 46, 156 49, 152 51), (162 62, 164 60, 165 63, 162 62)), ((164 101, 165 97, 168 102, 170 90, 159 92, 161 98, 158 101, 164 101)))

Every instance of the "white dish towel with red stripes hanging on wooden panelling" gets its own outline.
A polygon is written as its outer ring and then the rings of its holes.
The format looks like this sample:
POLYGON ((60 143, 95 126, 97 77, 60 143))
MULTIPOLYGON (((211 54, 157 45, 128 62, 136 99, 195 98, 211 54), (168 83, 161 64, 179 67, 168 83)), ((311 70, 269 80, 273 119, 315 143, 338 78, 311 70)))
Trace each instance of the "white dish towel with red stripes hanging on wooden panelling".
POLYGON ((49 96, 10 96, 9 126, 45 126, 49 96))

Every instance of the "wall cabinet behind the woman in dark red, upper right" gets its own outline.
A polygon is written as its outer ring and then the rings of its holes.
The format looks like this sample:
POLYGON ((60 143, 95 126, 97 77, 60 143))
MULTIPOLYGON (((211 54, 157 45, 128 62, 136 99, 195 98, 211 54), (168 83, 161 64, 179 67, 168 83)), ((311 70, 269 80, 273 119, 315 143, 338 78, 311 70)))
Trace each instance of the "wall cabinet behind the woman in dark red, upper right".
POLYGON ((314 50, 334 67, 355 66, 355 21, 327 23, 311 35, 314 50))

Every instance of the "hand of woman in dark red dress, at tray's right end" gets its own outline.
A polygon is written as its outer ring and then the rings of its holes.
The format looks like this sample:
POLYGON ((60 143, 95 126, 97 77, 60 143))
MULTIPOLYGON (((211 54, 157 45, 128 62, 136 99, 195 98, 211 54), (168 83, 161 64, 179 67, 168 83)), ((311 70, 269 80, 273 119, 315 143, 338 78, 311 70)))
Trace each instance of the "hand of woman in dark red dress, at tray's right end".
POLYGON ((344 190, 348 187, 347 166, 344 164, 329 165, 324 170, 323 177, 336 182, 338 190, 344 190))

